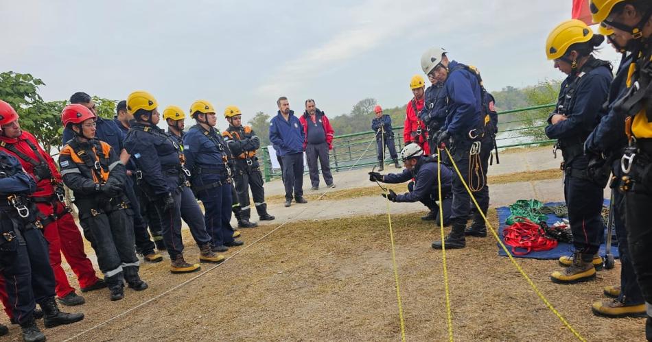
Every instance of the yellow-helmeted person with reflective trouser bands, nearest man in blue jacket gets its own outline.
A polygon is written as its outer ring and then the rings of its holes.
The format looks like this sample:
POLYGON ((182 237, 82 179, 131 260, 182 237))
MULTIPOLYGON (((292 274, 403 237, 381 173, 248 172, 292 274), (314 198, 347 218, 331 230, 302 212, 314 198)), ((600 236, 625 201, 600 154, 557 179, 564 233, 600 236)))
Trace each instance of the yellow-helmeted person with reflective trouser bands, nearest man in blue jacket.
MULTIPOLYGON (((251 204, 249 201, 249 187, 253 195, 254 206, 261 221, 275 219, 267 212, 265 203, 265 189, 263 188, 263 175, 260 172, 260 164, 256 155, 260 148, 260 139, 251 129, 251 126, 242 125, 242 112, 236 106, 228 106, 224 109, 224 118, 229 122, 229 128, 222 132, 226 146, 231 150, 233 156, 233 180, 235 181, 235 192, 237 202, 240 203, 240 217, 237 226, 252 228, 256 223, 250 222, 251 204)), ((236 200, 234 199, 234 202, 236 200)))

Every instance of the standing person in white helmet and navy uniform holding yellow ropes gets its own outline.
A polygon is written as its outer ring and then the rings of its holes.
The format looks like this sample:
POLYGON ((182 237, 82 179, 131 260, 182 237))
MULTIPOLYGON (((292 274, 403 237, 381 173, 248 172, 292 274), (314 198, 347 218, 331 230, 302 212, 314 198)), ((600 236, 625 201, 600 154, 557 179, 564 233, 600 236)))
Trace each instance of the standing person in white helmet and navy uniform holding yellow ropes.
MULTIPOLYGON (((451 154, 452 163, 460 173, 452 181, 452 229, 444 243, 447 249, 464 248, 465 235, 487 236, 485 219, 477 210, 471 227, 466 227, 471 193, 485 215, 489 208, 487 167, 493 144, 485 127, 491 122, 483 109, 486 91, 476 69, 448 60, 444 49, 432 48, 423 53, 421 69, 443 85, 440 95, 446 101, 439 101, 436 106, 444 106, 447 117, 443 127, 436 132, 436 141, 440 149, 451 154), (452 146, 450 152, 448 146, 452 146)), ((442 109, 434 110, 441 112, 442 109)), ((442 245, 442 241, 434 241, 432 248, 441 249, 442 245)))

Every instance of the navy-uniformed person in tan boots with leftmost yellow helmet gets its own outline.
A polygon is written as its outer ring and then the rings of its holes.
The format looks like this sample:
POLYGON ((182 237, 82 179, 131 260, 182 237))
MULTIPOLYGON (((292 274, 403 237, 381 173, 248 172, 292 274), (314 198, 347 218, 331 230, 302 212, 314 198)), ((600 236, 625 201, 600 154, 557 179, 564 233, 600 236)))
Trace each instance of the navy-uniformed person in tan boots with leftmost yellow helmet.
POLYGON ((183 258, 181 217, 185 219, 200 248, 200 262, 222 262, 224 256, 212 251, 203 215, 188 188, 189 171, 185 169, 181 146, 156 124, 159 123, 159 104, 145 91, 131 93, 127 110, 135 122, 124 141, 125 149, 137 165, 137 179, 143 193, 156 205, 161 217, 163 240, 170 255, 170 271, 187 273, 200 269, 183 258))

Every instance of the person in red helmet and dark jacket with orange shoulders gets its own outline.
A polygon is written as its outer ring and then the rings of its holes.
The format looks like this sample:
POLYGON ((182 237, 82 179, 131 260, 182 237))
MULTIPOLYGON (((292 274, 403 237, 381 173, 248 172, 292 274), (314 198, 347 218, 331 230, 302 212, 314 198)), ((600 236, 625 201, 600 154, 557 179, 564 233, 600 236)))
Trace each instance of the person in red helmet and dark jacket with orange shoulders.
POLYGON ((126 169, 110 145, 95 139, 96 119, 80 104, 63 109, 61 121, 75 136, 61 150, 59 166, 63 182, 75 196, 84 236, 95 249, 110 300, 121 300, 124 280, 136 291, 148 284, 138 275, 134 223, 124 193, 126 169))

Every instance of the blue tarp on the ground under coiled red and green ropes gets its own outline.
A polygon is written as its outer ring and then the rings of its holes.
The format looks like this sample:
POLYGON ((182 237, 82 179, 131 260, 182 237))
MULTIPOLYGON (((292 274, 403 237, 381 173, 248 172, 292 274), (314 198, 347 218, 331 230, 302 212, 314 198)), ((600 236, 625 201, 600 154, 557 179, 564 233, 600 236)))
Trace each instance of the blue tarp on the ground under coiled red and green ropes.
MULTIPOLYGON (((550 202, 546 203, 544 205, 546 206, 559 206, 559 204, 564 204, 563 202, 550 202)), ((609 206, 609 199, 605 199, 605 206, 609 206)), ((501 239, 503 239, 502 235, 502 230, 507 227, 505 225, 505 221, 507 221, 507 217, 511 215, 511 212, 509 211, 509 207, 502 206, 498 209, 496 209, 498 212, 498 223, 500 223, 500 228, 498 230, 498 235, 500 236, 501 239)), ((568 219, 568 218, 567 218, 568 219)), ((561 221, 561 218, 556 217, 555 214, 549 214, 548 215, 548 220, 546 223, 548 225, 553 225, 555 222, 561 221)), ((605 227, 605 234, 606 234, 607 228, 605 227)), ((614 241, 612 242, 614 245, 612 245, 612 253, 614 254, 615 258, 618 258, 618 247, 615 245, 616 244, 616 239, 613 239, 614 241)), ((504 242, 504 240, 503 240, 504 242)), ((498 246, 498 255, 499 256, 507 256, 505 254, 505 251, 496 243, 498 246)), ((509 252, 511 253, 511 246, 506 245, 507 248, 509 249, 509 252)), ((559 243, 557 247, 550 249, 548 251, 542 251, 542 252, 531 252, 528 253, 524 256, 514 256, 515 258, 533 258, 533 259, 558 259, 561 256, 566 256, 572 254, 572 249, 573 246, 570 243, 559 243)), ((524 250, 523 250, 524 251, 524 250)), ((600 255, 605 256, 605 244, 603 243, 600 246, 600 255)))

